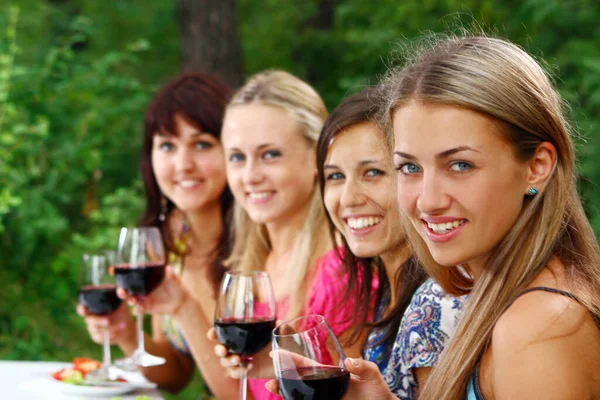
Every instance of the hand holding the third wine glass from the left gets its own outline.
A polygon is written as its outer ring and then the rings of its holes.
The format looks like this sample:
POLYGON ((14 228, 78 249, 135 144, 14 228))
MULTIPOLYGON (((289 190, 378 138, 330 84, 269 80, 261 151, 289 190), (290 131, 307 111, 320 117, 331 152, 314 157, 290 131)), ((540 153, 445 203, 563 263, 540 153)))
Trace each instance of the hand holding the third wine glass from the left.
MULTIPOLYGON (((206 334, 208 339, 219 343, 215 328, 210 328, 206 334)), ((248 364, 249 378, 273 378, 273 361, 269 357, 271 346, 267 346, 252 357, 252 362, 248 364)), ((215 354, 221 359, 221 366, 225 368, 227 376, 240 379, 240 363, 239 355, 229 354, 227 347, 222 344, 215 345, 215 354)))

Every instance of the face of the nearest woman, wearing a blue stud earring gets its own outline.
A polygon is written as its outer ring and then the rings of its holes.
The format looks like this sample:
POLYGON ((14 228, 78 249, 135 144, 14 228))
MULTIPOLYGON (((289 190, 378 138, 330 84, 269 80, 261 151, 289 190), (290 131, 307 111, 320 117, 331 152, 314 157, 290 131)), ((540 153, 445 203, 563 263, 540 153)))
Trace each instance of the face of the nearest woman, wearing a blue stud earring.
POLYGON ((393 125, 401 210, 435 261, 480 272, 521 211, 526 163, 493 119, 464 108, 410 102, 393 125))

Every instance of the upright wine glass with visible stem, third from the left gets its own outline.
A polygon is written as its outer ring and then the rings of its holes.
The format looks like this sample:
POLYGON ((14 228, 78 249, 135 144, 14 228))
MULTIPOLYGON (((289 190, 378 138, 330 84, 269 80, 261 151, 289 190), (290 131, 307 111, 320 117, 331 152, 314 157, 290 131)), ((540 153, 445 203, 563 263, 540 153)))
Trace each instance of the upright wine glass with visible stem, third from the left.
POLYGON ((221 281, 215 310, 219 342, 241 360, 240 399, 246 399, 248 364, 271 342, 275 327, 275 295, 266 272, 228 272, 221 281))

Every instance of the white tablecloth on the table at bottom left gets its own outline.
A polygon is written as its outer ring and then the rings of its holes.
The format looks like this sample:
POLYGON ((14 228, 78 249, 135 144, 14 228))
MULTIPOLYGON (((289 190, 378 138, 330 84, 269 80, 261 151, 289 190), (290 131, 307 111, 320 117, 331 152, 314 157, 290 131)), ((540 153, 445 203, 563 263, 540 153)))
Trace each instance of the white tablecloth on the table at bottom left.
MULTIPOLYGON (((82 400, 110 399, 109 397, 90 397, 65 394, 60 390, 62 383, 54 382, 53 372, 72 366, 71 363, 42 361, 0 361, 0 399, 2 400, 82 400)), ((133 400, 136 396, 146 395, 152 400, 164 400, 157 389, 136 390, 121 395, 123 400, 133 400)))

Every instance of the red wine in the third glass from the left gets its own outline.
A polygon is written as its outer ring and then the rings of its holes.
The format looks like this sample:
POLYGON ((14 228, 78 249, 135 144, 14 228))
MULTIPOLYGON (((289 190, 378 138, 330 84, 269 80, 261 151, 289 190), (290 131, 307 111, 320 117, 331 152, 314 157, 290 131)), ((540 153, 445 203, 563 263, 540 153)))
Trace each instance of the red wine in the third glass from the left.
POLYGON ((241 357, 252 356, 271 343, 271 331, 275 328, 273 318, 215 320, 215 331, 219 342, 230 353, 241 357))

